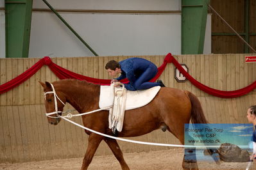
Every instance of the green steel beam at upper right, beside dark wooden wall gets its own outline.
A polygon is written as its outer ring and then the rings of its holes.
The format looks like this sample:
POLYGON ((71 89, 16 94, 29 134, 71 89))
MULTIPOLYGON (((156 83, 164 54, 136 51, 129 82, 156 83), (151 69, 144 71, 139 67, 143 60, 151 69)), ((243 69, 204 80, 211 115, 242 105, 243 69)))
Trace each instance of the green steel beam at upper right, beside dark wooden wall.
POLYGON ((210 0, 182 0, 182 54, 203 54, 210 0))

